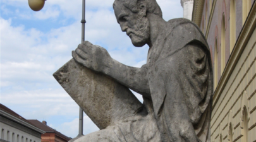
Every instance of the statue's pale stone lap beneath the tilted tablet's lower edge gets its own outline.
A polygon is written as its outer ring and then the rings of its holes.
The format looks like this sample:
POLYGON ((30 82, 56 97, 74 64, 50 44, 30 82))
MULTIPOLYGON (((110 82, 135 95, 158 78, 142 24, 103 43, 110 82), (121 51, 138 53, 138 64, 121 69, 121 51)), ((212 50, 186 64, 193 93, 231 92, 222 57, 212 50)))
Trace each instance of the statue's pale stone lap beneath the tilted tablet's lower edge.
MULTIPOLYGON (((136 118, 137 119, 137 118, 136 118)), ((87 134, 75 142, 85 141, 161 141, 157 124, 152 114, 138 117, 137 120, 116 122, 100 131, 87 134)))

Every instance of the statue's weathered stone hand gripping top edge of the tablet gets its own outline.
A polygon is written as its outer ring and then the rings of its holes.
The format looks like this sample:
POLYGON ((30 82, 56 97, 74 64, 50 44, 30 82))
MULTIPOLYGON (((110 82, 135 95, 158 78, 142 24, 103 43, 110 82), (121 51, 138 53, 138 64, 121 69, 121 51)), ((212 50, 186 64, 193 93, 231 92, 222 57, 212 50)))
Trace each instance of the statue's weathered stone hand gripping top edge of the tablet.
POLYGON ((107 62, 112 59, 106 49, 88 41, 79 44, 77 49, 72 51, 72 56, 83 66, 99 72, 103 71, 108 66, 107 62))

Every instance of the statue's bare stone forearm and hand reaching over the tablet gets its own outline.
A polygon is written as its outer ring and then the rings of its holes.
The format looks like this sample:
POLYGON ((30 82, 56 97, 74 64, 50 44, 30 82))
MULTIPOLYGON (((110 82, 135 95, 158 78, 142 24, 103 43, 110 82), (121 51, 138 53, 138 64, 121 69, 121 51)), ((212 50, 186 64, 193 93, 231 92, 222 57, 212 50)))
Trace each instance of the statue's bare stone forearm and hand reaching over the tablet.
POLYGON ((147 64, 143 65, 142 68, 126 66, 114 60, 106 49, 90 42, 83 42, 78 45, 78 48, 72 52, 72 56, 83 66, 107 74, 131 90, 145 97, 150 97, 147 64))

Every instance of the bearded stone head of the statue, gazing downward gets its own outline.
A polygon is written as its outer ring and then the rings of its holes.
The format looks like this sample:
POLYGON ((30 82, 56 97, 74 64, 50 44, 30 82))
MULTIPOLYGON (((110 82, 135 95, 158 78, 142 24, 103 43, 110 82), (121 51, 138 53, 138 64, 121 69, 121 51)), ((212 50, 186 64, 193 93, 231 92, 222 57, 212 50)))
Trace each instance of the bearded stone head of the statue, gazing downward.
POLYGON ((155 0, 115 0, 113 8, 121 30, 126 32, 136 47, 142 47, 150 40, 147 15, 151 13, 162 17, 155 0))

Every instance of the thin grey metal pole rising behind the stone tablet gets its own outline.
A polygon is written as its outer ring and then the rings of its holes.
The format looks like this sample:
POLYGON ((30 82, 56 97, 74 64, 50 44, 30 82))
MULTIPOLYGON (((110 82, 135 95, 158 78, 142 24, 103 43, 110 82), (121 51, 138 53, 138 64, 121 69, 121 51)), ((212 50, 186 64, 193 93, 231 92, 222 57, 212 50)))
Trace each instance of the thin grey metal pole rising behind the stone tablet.
MULTIPOLYGON (((81 23, 82 23, 82 40, 81 42, 84 42, 85 41, 85 0, 82 0, 83 1, 83 10, 82 10, 82 20, 81 20, 81 23)), ((80 107, 79 109, 79 133, 78 133, 78 136, 83 136, 83 109, 80 107)))

